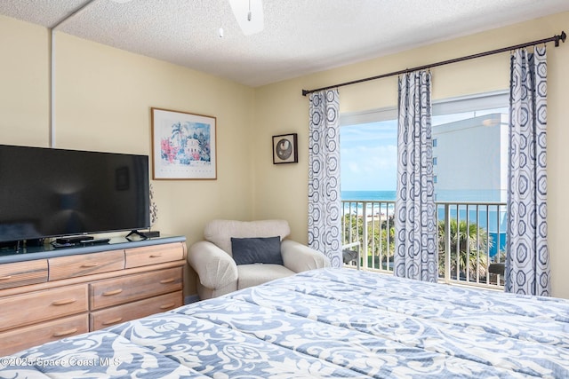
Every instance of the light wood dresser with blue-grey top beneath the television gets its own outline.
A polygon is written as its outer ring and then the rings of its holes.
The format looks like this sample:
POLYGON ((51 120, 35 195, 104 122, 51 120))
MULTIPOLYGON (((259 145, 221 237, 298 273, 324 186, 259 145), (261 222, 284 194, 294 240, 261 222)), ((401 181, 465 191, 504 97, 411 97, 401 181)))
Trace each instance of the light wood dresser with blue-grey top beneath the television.
POLYGON ((0 251, 0 357, 183 304, 184 237, 0 251))

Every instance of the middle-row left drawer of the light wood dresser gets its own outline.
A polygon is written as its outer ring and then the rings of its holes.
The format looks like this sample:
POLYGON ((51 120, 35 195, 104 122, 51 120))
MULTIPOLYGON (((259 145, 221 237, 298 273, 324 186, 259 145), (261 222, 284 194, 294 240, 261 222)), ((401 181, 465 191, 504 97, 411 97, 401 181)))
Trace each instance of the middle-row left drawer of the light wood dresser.
POLYGON ((86 312, 87 285, 30 292, 0 298, 0 330, 86 312))

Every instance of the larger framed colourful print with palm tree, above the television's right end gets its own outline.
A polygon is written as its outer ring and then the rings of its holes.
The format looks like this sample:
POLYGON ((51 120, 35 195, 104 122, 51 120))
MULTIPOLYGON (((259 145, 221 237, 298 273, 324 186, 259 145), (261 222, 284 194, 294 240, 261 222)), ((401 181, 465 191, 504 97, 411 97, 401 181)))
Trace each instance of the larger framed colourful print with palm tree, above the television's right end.
POLYGON ((217 179, 217 119, 151 108, 152 178, 217 179))

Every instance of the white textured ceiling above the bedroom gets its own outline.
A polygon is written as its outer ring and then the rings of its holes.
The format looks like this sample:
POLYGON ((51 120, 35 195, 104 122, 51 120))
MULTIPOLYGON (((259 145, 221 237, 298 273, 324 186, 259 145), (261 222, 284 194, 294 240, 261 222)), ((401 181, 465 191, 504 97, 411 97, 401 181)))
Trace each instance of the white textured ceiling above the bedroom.
POLYGON ((5 16, 252 87, 565 11, 569 0, 263 0, 264 30, 244 36, 228 0, 0 1, 5 16))

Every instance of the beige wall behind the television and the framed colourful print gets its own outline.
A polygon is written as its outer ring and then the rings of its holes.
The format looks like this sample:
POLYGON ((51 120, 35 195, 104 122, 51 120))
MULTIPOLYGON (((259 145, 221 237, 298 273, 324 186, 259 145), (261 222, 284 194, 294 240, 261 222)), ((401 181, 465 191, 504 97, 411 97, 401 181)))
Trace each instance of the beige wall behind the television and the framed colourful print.
MULTIPOLYGON (((48 31, 0 16, 0 46, 0 143, 50 146, 48 31)), ((191 244, 214 217, 252 217, 251 88, 62 33, 54 46, 56 147, 151 155, 151 107, 215 116, 218 179, 153 180, 155 228, 191 244)))

